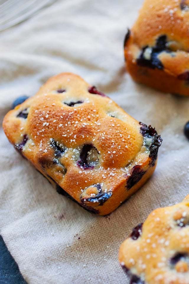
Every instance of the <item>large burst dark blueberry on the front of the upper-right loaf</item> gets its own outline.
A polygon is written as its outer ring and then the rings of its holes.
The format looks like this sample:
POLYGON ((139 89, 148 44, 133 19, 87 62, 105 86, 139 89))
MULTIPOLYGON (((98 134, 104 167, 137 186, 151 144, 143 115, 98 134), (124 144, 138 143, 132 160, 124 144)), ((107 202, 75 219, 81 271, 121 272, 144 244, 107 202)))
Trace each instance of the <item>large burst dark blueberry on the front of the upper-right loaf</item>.
POLYGON ((155 69, 155 68, 160 69, 160 70, 164 69, 162 62, 158 59, 158 55, 162 51, 170 52, 170 50, 166 46, 166 43, 167 43, 167 35, 161 35, 159 36, 159 38, 157 38, 156 45, 152 48, 150 60, 144 57, 144 52, 149 47, 149 46, 145 46, 142 49, 139 58, 136 60, 137 64, 139 66, 149 67, 151 69, 155 69))

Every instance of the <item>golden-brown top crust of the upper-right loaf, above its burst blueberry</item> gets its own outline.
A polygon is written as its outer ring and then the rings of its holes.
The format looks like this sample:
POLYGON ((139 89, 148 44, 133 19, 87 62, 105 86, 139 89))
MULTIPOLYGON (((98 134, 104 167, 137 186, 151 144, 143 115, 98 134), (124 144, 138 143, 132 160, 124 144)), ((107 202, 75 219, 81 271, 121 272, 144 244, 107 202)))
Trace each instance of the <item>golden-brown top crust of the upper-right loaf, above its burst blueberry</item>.
POLYGON ((134 41, 142 48, 154 46, 156 39, 167 35, 181 50, 189 51, 189 1, 145 0, 132 31, 134 41))

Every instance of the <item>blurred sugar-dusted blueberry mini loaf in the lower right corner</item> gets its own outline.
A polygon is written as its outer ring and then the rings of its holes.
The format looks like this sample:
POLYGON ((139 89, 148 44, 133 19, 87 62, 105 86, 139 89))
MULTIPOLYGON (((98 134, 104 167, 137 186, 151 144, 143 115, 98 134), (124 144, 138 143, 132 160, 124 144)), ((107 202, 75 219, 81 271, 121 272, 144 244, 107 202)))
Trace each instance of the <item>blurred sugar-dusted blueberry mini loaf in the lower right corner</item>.
POLYGON ((189 284, 189 195, 154 210, 119 250, 130 283, 189 284))

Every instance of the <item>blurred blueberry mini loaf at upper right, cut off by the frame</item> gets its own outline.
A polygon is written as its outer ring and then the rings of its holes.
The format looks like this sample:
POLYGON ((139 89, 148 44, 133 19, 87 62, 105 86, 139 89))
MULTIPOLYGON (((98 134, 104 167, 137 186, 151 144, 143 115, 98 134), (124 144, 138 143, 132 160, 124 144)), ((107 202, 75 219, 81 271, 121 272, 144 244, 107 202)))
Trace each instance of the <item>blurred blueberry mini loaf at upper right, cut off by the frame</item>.
POLYGON ((135 81, 189 96, 189 1, 145 0, 124 51, 135 81))

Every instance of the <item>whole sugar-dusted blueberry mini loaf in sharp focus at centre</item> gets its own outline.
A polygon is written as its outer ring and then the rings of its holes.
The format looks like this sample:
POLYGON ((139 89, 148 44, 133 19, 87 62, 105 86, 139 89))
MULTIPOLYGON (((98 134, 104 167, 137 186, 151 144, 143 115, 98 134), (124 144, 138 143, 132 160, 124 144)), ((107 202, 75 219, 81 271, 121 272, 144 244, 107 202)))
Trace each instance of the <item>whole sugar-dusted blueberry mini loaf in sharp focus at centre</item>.
POLYGON ((162 139, 71 73, 50 78, 6 114, 9 141, 53 184, 106 215, 153 173, 162 139))

